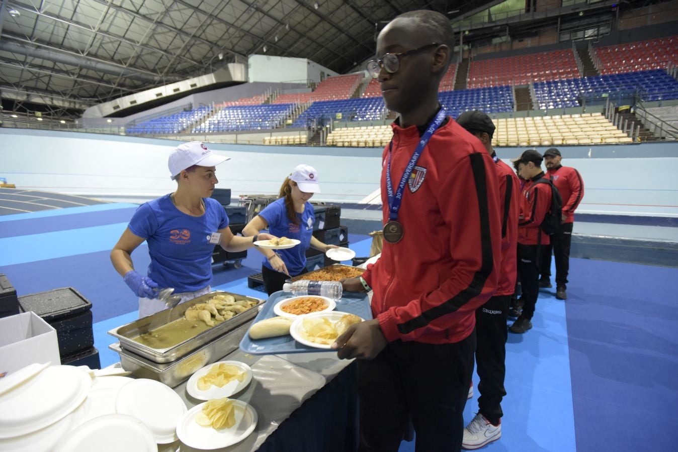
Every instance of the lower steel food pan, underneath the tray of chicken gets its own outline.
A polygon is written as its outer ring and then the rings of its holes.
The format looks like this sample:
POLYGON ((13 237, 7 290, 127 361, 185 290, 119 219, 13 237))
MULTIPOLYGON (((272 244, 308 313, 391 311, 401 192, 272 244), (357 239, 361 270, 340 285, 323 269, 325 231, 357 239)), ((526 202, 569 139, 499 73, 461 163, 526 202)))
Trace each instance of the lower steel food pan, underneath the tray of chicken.
POLYGON ((201 346, 193 353, 174 361, 174 363, 154 363, 125 350, 119 342, 109 345, 108 348, 120 355, 120 363, 123 369, 132 372, 132 375, 136 378, 151 378, 151 380, 157 380, 174 388, 174 386, 181 384, 195 374, 198 369, 219 361, 238 348, 238 344, 247 334, 251 324, 252 321, 248 321, 240 325, 231 332, 201 346))

